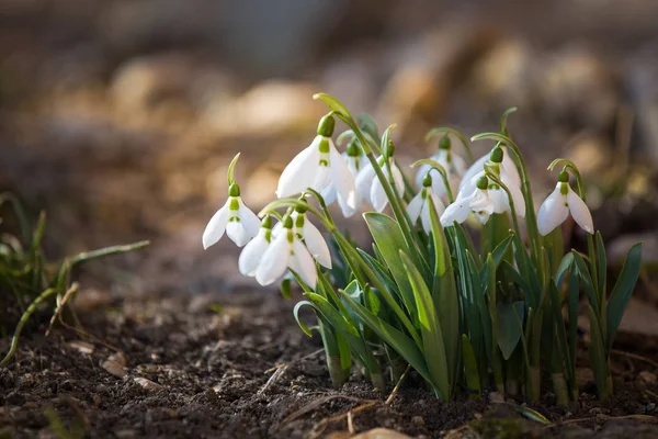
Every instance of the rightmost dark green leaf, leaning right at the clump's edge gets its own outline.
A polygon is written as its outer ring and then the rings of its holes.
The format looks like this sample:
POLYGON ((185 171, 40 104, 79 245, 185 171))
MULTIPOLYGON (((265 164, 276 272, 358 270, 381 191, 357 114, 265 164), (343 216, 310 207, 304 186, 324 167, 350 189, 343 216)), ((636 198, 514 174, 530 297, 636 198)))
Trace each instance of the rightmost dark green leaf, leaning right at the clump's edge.
POLYGON ((626 311, 628 301, 631 300, 631 294, 633 294, 633 290, 635 290, 635 284, 637 283, 637 278, 639 277, 639 270, 642 268, 642 248, 643 243, 631 247, 626 260, 624 261, 624 266, 622 267, 620 278, 610 294, 610 300, 608 302, 608 340, 605 344, 608 349, 612 348, 612 341, 622 323, 622 317, 626 311))

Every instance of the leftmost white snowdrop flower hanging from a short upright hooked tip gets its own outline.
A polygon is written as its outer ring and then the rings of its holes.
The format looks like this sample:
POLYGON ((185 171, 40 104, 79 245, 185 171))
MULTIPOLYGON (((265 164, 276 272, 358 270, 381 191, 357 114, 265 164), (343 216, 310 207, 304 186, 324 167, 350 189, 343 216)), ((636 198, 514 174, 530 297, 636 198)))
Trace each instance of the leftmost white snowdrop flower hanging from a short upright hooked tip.
POLYGON ((203 248, 217 243, 224 232, 238 247, 242 247, 258 234, 259 228, 260 219, 242 203, 240 187, 232 183, 228 188, 228 200, 213 215, 203 233, 203 248))

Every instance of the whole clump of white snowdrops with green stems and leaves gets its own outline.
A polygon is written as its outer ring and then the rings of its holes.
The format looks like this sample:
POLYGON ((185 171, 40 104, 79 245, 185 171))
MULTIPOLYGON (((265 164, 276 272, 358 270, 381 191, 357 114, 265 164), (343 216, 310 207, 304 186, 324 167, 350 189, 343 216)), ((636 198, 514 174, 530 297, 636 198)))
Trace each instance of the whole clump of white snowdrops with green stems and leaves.
POLYGON ((439 148, 407 169, 416 171, 410 179, 395 157, 394 126, 379 134, 372 119, 355 120, 337 99, 314 98, 330 112, 283 171, 277 200, 258 215, 243 204, 236 156, 228 200, 208 223, 203 245, 226 233, 243 246, 242 274, 261 285, 283 278, 286 293, 292 279, 299 284, 305 300, 295 318, 307 335, 315 329, 321 336, 333 384, 341 385, 355 363, 384 390, 387 376, 395 382, 411 367, 443 401, 490 387, 534 401, 542 375, 549 374, 560 403, 577 399, 583 293, 590 367, 599 396, 609 396, 610 352, 639 274, 642 244, 611 285, 576 165, 558 158, 548 166, 558 172, 556 187, 535 210, 523 155, 507 131, 511 109, 500 133, 470 139, 494 140, 478 160, 461 133, 432 130, 427 138, 438 138, 439 148), (337 137, 342 154, 332 140, 336 119, 349 128, 337 137), (466 158, 453 150, 451 137, 466 158), (371 248, 338 229, 328 209, 334 203, 345 217, 372 206, 363 214, 371 248), (382 213, 387 206, 392 215, 382 213), (587 234, 587 254, 563 248, 560 225, 569 216, 587 234), (468 233, 474 227, 479 245, 468 233), (298 316, 305 306, 317 315, 314 328, 298 316))

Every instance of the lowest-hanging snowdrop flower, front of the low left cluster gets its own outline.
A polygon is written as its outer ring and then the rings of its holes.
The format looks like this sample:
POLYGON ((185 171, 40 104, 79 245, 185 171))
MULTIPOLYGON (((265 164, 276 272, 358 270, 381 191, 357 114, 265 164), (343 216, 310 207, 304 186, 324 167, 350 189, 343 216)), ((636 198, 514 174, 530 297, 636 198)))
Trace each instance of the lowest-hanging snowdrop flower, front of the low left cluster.
POLYGON ((261 285, 269 285, 281 278, 286 269, 295 271, 311 289, 318 282, 313 257, 293 232, 293 218, 284 219, 283 229, 274 236, 272 244, 262 256, 256 269, 256 280, 261 285))

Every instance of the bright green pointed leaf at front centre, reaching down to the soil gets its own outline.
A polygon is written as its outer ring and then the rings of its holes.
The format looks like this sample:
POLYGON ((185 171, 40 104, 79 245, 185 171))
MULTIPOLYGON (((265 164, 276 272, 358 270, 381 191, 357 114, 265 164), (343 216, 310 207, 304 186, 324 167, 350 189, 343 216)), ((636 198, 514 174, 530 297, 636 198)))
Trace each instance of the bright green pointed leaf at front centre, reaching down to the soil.
MULTIPOLYGON (((449 376, 443 333, 436 317, 434 302, 432 301, 428 285, 416 266, 413 266, 413 262, 411 262, 411 259, 401 251, 400 257, 402 259, 402 264, 407 269, 409 282, 411 283, 413 296, 416 297, 418 320, 420 322, 420 334, 422 336, 422 350, 428 364, 428 370, 432 376, 434 386, 438 387, 443 396, 443 401, 447 401, 451 396, 452 385, 449 376)), ((450 353, 456 354, 455 351, 450 353)))

